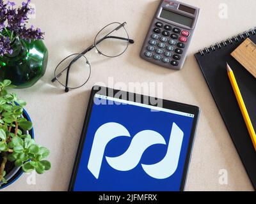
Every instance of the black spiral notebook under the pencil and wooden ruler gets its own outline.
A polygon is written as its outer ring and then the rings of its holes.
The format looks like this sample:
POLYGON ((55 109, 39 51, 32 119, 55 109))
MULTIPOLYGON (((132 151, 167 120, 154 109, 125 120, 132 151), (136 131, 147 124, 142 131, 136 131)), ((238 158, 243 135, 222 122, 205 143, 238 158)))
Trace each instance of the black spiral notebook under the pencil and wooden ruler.
POLYGON ((250 38, 256 43, 256 30, 250 30, 200 50, 195 54, 195 57, 244 168, 256 190, 256 151, 253 148, 236 96, 228 80, 226 69, 226 62, 228 62, 236 75, 244 103, 248 109, 253 127, 256 129, 256 78, 230 55, 246 38, 250 38))

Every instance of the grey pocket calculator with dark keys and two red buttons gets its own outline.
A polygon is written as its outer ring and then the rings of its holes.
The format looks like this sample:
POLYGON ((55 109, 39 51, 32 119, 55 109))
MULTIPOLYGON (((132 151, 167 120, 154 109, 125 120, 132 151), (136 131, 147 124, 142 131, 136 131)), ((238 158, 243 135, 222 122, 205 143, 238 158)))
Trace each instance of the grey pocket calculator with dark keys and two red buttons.
POLYGON ((185 62, 200 8, 162 0, 141 48, 141 58, 180 70, 185 62))

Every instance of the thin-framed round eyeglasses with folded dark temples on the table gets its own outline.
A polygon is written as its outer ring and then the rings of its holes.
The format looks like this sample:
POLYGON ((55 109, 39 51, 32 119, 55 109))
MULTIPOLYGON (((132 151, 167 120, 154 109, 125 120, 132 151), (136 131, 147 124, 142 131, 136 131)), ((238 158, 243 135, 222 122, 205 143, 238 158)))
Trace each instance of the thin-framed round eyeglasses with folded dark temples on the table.
POLYGON ((134 43, 134 40, 129 38, 125 25, 126 22, 113 22, 103 27, 95 36, 93 45, 81 54, 69 55, 56 66, 52 82, 57 80, 65 87, 65 92, 83 87, 92 73, 91 64, 85 56, 87 52, 96 48, 100 55, 118 57, 124 54, 129 44, 134 43))

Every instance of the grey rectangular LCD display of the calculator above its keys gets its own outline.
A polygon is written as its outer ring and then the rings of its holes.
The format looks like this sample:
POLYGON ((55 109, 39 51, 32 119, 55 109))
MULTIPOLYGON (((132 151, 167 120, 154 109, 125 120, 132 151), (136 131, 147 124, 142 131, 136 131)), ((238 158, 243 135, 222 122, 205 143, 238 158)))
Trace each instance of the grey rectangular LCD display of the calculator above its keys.
POLYGON ((172 22, 176 22, 178 24, 186 25, 188 27, 192 27, 194 23, 193 18, 186 17, 184 15, 180 15, 179 13, 174 13, 165 9, 162 10, 160 17, 165 18, 166 20, 170 20, 172 22))

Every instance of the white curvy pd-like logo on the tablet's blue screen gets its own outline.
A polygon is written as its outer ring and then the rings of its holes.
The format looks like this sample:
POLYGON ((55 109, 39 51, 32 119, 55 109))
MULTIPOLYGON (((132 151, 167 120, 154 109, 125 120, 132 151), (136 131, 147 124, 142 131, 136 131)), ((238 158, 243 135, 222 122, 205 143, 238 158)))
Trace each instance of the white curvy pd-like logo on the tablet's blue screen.
MULTIPOLYGON (((96 179, 99 179, 106 145, 113 140, 113 138, 120 136, 131 138, 129 131, 121 124, 115 122, 106 123, 97 129, 88 162, 88 170, 91 171, 96 179)), ((164 158, 156 164, 141 164, 141 167, 147 175, 154 179, 167 179, 175 173, 179 163, 183 136, 184 133, 182 130, 173 122, 172 132, 164 158)), ((167 145, 163 136, 156 131, 141 131, 132 138, 131 144, 124 154, 118 157, 106 156, 106 161, 109 166, 115 170, 131 171, 140 163, 143 152, 145 152, 148 147, 156 144, 167 145)))

